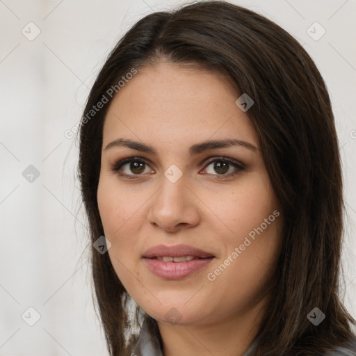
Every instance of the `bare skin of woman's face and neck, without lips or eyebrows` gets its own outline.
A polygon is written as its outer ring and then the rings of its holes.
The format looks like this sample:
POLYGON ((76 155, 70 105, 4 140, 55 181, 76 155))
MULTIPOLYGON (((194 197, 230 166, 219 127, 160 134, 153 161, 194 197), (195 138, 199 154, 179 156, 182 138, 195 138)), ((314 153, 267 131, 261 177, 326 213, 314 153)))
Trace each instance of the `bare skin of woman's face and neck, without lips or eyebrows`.
POLYGON ((112 244, 108 254, 133 300, 158 321, 165 356, 243 355, 270 300, 282 214, 215 280, 207 278, 249 232, 280 211, 257 133, 236 106, 238 97, 216 73, 159 62, 140 69, 106 114, 97 199, 112 244), (105 149, 118 138, 152 145, 158 156, 128 147, 105 149), (234 146, 189 156, 191 145, 226 138, 248 141, 257 150, 234 146), (122 174, 134 179, 111 170, 131 156, 148 162, 141 170, 122 166, 122 174), (217 170, 214 162, 205 163, 219 156, 245 169, 217 170), (175 183, 164 175, 172 164, 182 172, 175 183), (231 172, 236 175, 228 177, 231 172), (165 280, 142 258, 160 244, 191 245, 215 258, 188 277, 165 280), (177 315, 175 323, 168 322, 167 313, 177 315))

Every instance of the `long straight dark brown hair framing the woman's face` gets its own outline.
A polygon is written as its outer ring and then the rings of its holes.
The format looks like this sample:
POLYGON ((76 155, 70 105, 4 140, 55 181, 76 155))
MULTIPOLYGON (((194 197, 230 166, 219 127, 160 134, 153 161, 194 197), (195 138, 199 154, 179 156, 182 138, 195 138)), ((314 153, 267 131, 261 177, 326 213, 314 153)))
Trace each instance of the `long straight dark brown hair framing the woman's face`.
MULTIPOLYGON (((118 92, 122 76, 159 60, 218 72, 254 100, 247 114, 284 216, 273 303, 261 323, 255 355, 321 355, 341 346, 353 337, 355 320, 338 296, 344 207, 330 97, 305 49, 251 10, 202 1, 152 13, 111 51, 90 91, 80 129, 79 179, 92 243, 104 235, 97 186, 104 118, 114 97, 108 90, 118 92), (104 96, 108 102, 94 114, 104 96), (326 316, 318 326, 307 318, 314 307, 326 316)), ((124 300, 129 296, 108 254, 92 248, 91 258, 108 350, 127 355, 124 300)), ((156 322, 149 322, 159 340, 156 322)))

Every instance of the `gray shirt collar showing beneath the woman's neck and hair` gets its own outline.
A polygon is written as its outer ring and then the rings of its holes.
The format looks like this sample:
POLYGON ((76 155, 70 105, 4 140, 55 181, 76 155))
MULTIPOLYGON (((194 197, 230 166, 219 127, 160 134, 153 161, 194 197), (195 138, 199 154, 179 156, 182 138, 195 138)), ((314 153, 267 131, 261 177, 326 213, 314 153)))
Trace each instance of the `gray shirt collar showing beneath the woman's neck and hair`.
MULTIPOLYGON (((243 356, 252 356, 252 351, 257 347, 255 339, 243 356)), ((141 327, 138 341, 132 349, 131 356, 163 356, 162 350, 154 345, 147 330, 147 323, 141 327)), ((348 348, 337 348, 337 350, 325 353, 325 356, 356 356, 356 339, 351 341, 348 348)))

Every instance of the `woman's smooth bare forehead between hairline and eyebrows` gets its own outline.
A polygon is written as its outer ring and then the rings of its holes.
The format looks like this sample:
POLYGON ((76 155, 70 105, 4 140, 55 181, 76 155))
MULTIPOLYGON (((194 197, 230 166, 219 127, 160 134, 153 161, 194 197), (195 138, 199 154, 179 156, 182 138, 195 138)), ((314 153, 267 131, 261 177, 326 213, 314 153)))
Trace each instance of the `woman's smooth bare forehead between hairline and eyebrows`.
POLYGON ((258 145, 246 113, 235 104, 238 93, 218 72, 159 63, 138 70, 111 102, 103 145, 125 136, 193 143, 218 138, 248 139, 258 145))

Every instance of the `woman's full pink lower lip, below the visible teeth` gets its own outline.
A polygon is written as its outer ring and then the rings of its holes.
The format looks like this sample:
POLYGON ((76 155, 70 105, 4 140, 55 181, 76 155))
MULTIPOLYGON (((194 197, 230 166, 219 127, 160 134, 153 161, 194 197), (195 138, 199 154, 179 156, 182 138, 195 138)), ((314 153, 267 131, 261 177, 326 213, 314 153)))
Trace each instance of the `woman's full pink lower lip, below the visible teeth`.
POLYGON ((213 260, 213 257, 208 259, 192 259, 184 262, 163 262, 159 259, 146 259, 149 270, 155 275, 166 280, 181 280, 188 277, 197 270, 206 267, 213 260))

